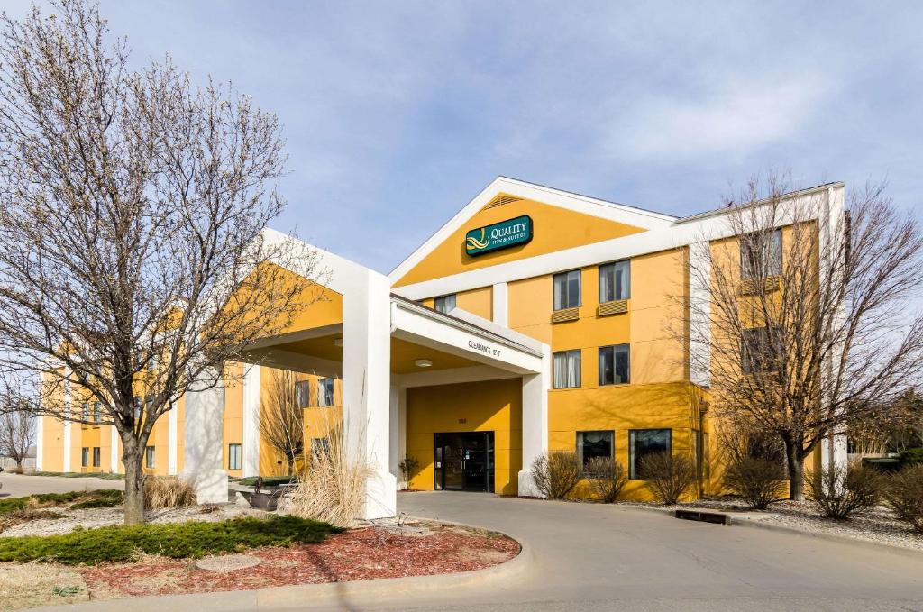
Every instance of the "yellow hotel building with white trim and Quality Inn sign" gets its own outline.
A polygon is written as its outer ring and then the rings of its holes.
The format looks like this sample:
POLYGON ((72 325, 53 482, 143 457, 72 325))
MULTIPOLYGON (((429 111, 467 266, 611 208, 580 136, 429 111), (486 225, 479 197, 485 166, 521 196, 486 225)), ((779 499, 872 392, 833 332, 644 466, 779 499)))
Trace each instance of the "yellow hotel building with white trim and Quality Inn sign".
MULTIPOLYGON (((821 223, 843 214, 842 184, 789 197, 821 223)), ((621 462, 624 495, 646 498, 641 458, 667 450, 697 463, 701 493, 719 492, 709 371, 690 358, 710 339, 689 330, 709 331, 688 303, 709 295, 690 286, 690 261, 735 239, 725 212, 677 218, 500 177, 389 276, 324 253, 326 299, 255 344, 235 366, 241 378, 177 402, 145 465, 183 474, 200 500, 226 498, 228 475, 283 474, 258 426, 275 367, 306 381, 306 410, 341 409, 347 444, 374 467, 366 518, 394 515, 404 457, 420 469, 402 486, 536 495, 534 459, 576 450, 621 462)), ((309 449, 324 432, 306 424, 309 449)), ((39 469, 121 469, 113 427, 45 418, 39 428, 39 469)), ((844 440, 816 461, 845 461, 844 440)))

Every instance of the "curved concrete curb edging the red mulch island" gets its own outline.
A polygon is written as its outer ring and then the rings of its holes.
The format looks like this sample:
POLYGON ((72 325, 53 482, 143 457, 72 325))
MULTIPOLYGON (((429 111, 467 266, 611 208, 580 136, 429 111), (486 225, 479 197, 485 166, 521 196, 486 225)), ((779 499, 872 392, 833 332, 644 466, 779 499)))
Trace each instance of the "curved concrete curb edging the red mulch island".
MULTIPOLYGON (((421 520, 432 521, 431 519, 421 520)), ((484 527, 462 522, 438 522, 485 530, 484 527)), ((117 612, 128 607, 131 608, 132 612, 163 612, 163 610, 171 610, 172 612, 181 612, 183 610, 232 612, 235 610, 258 609, 304 609, 314 606, 338 606, 349 609, 354 604, 358 604, 359 600, 368 601, 369 599, 374 600, 383 596, 429 594, 444 591, 448 588, 507 583, 510 579, 520 576, 529 569, 534 560, 534 553, 532 547, 520 539, 509 534, 503 535, 519 543, 519 554, 509 559, 509 561, 480 570, 410 576, 407 578, 375 578, 347 582, 325 582, 322 584, 292 584, 255 589, 253 591, 148 595, 112 600, 90 600, 86 603, 69 606, 46 606, 33 609, 48 610, 49 612, 61 610, 65 607, 74 610, 99 610, 101 612, 117 612)))

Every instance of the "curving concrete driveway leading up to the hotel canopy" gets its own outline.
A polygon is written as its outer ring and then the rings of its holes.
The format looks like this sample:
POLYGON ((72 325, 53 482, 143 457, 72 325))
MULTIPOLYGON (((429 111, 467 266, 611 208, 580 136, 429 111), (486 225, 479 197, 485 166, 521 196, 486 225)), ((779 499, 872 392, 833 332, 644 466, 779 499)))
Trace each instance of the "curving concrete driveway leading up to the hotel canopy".
POLYGON ((398 508, 511 534, 532 546, 533 570, 502 591, 469 588, 367 609, 923 609, 923 554, 478 493, 403 493, 398 508))

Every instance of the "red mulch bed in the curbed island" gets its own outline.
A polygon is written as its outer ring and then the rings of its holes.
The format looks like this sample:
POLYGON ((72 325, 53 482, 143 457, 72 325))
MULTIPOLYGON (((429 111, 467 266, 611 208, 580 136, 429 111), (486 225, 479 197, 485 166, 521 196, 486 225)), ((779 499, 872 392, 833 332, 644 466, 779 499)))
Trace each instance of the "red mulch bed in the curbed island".
POLYGON ((396 535, 369 527, 331 535, 322 544, 253 548, 244 554, 263 562, 246 570, 199 570, 193 560, 159 557, 78 570, 90 599, 110 599, 444 574, 479 570, 519 554, 519 544, 502 534, 428 527, 434 534, 396 535))

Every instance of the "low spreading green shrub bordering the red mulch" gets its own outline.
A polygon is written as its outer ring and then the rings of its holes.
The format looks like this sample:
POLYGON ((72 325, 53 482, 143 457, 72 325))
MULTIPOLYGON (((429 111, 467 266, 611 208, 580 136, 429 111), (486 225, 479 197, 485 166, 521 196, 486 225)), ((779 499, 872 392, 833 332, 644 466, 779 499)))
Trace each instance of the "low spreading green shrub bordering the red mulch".
POLYGON ((323 542, 333 525, 273 516, 224 522, 114 525, 70 534, 0 538, 0 562, 57 561, 66 565, 129 561, 138 551, 169 558, 201 558, 257 546, 323 542))

